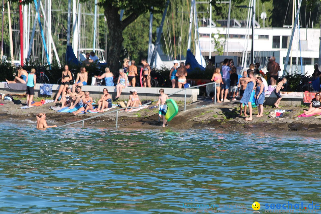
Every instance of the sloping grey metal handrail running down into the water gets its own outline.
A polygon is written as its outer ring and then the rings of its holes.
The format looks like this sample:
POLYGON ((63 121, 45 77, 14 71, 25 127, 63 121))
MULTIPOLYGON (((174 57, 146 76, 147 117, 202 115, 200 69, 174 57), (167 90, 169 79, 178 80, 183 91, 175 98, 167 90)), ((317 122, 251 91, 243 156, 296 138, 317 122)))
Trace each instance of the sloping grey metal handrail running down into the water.
MULTIPOLYGON (((202 85, 196 85, 196 86, 188 87, 188 88, 186 88, 186 89, 178 90, 178 91, 176 91, 176 92, 174 92, 174 93, 171 93, 171 94, 169 94, 168 96, 172 96, 172 95, 174 95, 174 94, 177 94, 178 92, 185 91, 184 111, 186 111, 186 90, 192 89, 192 88, 201 87, 201 86, 205 86, 205 85, 210 85, 210 84, 214 84, 214 83, 213 83, 213 82, 209 82, 209 83, 205 83, 205 84, 202 84, 202 85)), ((216 87, 214 87, 214 88, 215 88, 214 104, 216 104, 216 87)), ((158 101, 158 99, 155 99, 155 100, 153 100, 153 101, 151 101, 151 102, 148 102, 148 103, 146 103, 146 104, 144 104, 144 105, 142 105, 142 106, 140 106, 140 107, 124 107, 124 108, 116 109, 116 110, 114 110, 114 111, 108 111, 108 112, 106 112, 106 113, 103 113, 103 114, 100 114, 100 115, 97 115, 97 116, 92 116, 92 117, 89 117, 89 118, 86 118, 86 119, 83 119, 83 120, 75 121, 75 122, 68 123, 68 124, 65 124, 65 125, 60 125, 60 126, 58 126, 57 128, 61 128, 61 127, 64 127, 64 126, 68 126, 68 125, 72 125, 72 124, 76 124, 76 123, 80 123, 80 122, 82 122, 82 128, 83 128, 84 121, 86 121, 86 120, 91 120, 91 119, 96 118, 96 117, 100 117, 100 116, 104 116, 104 115, 108 115, 108 114, 110 114, 110 113, 116 112, 116 130, 117 130, 118 111, 124 110, 124 109, 126 109, 126 108, 133 108, 133 109, 134 109, 134 108, 141 108, 141 107, 143 107, 143 106, 148 106, 148 105, 150 105, 150 104, 152 104, 153 102, 156 102, 156 101, 158 101)))

